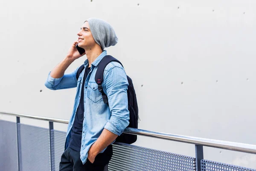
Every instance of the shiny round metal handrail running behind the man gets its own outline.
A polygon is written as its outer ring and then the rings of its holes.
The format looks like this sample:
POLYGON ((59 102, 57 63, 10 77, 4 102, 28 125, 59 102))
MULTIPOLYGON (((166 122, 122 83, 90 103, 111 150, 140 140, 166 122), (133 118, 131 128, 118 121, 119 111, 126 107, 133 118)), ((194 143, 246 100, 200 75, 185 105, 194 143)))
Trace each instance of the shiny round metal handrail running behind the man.
MULTIPOLYGON (((13 114, 13 113, 7 113, 7 112, 0 112, 0 114, 12 115, 12 116, 23 117, 23 118, 39 119, 39 120, 58 122, 58 123, 69 123, 68 120, 64 120, 64 119, 46 118, 46 117, 23 115, 23 114, 13 114)), ((152 131, 135 129, 135 128, 126 128, 124 132, 127 134, 142 135, 146 137, 154 137, 154 138, 160 138, 164 140, 173 140, 173 141, 178 141, 183 143, 190 143, 195 145, 256 154, 256 145, 251 145, 251 144, 235 143, 235 142, 222 141, 222 140, 212 140, 207 138, 190 137, 190 136, 184 136, 184 135, 167 134, 162 132, 152 132, 152 131)))

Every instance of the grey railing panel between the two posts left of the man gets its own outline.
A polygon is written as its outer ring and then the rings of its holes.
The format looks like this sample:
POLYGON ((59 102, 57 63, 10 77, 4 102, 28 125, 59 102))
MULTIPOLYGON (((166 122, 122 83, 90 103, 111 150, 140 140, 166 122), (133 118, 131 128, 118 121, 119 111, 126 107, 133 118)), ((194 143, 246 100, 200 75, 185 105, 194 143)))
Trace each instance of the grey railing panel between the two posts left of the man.
POLYGON ((22 161, 20 171, 49 171, 49 129, 18 123, 22 161))

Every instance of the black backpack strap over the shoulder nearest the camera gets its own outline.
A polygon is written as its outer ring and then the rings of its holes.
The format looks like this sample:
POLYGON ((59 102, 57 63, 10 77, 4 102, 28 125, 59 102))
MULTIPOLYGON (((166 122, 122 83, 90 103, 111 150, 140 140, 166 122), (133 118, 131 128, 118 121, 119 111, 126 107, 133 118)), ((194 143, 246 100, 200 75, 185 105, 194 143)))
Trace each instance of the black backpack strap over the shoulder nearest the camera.
POLYGON ((104 74, 105 67, 110 62, 118 62, 119 64, 122 65, 122 63, 119 62, 119 60, 115 59, 113 56, 107 55, 107 56, 104 56, 104 58, 99 62, 98 69, 95 74, 95 81, 98 84, 98 90, 102 93, 102 98, 105 104, 108 104, 108 98, 103 91, 102 82, 103 82, 103 74, 104 74))

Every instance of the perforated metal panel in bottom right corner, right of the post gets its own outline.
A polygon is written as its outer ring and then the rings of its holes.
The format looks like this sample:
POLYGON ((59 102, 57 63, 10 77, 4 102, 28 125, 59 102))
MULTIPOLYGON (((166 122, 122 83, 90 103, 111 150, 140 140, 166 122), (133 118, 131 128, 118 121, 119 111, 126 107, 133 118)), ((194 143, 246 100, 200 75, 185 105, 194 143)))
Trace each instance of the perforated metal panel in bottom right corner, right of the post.
POLYGON ((256 171, 250 168, 243 168, 236 165, 201 160, 201 171, 256 171))

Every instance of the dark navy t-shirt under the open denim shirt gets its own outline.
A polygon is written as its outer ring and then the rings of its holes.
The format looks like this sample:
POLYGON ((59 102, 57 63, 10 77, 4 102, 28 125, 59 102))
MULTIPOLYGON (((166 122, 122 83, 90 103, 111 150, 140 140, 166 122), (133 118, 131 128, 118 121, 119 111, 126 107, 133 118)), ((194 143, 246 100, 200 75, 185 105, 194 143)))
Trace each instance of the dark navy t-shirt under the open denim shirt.
POLYGON ((87 67, 84 72, 84 80, 81 88, 81 95, 80 95, 81 98, 80 98, 79 106, 76 110, 75 120, 73 123, 73 127, 71 129, 69 147, 76 151, 80 151, 81 149, 83 121, 84 121, 84 83, 89 73, 90 73, 90 67, 87 67))

